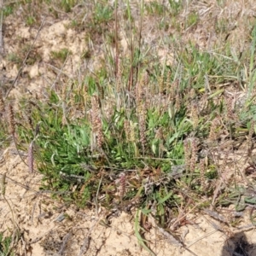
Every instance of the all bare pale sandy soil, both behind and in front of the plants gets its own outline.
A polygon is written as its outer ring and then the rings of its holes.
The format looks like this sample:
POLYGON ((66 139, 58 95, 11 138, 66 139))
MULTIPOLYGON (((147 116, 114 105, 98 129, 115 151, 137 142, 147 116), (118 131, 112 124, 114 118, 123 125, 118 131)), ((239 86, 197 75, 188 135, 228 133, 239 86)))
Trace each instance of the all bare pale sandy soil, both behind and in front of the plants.
MULTIPOLYGON (((243 9, 242 3, 227 4, 222 12, 234 17, 237 12, 243 10, 243 16, 253 16, 255 7, 253 3, 246 1, 243 9)), ((214 9, 215 3, 212 5, 201 3, 195 6, 195 9, 201 11, 201 15, 207 14, 208 9, 214 9)), ((192 5, 193 6, 193 5, 192 5)), ((79 8, 77 7, 79 12, 79 8)), ((1 78, 3 89, 8 90, 10 84, 15 80, 15 76, 19 72, 19 63, 10 61, 11 53, 18 53, 22 44, 32 44, 38 33, 38 25, 27 26, 22 18, 24 7, 15 10, 15 14, 9 15, 4 19, 4 51, 0 62, 2 69, 1 78), (8 57, 9 56, 9 59, 8 57)), ((216 15, 218 10, 212 11, 216 15)), ((185 15, 185 14, 184 14, 185 15)), ((220 15, 220 13, 219 13, 220 15)), ((216 15, 218 16, 218 15, 216 15)), ((242 17, 243 17, 242 16, 242 17)), ((23 67, 22 73, 15 87, 10 91, 10 101, 16 103, 17 98, 23 95, 44 94, 44 89, 51 86, 55 78, 64 73, 64 76, 78 76, 79 72, 83 72, 83 68, 90 66, 91 70, 101 65, 102 58, 102 42, 98 42, 93 48, 92 58, 89 62, 84 63, 80 59, 80 55, 87 50, 82 44, 87 31, 78 31, 67 26, 70 22, 69 16, 62 14, 58 19, 46 17, 44 26, 39 32, 38 38, 34 45, 34 54, 40 55, 40 60, 36 60, 32 65, 23 67), (61 70, 56 67, 57 64, 51 60, 51 51, 67 48, 72 51, 72 58, 67 60, 65 67, 61 70)), ((150 21, 150 18, 147 18, 150 21)), ((146 21, 147 21, 146 19, 146 21)), ((43 20, 40 19, 40 20, 43 20)), ((242 19, 243 20, 243 19, 242 19)), ((145 22, 146 22, 145 21, 145 22)), ((210 24, 211 21, 207 20, 210 24)), ((194 30, 187 29, 187 35, 182 35, 183 42, 188 38, 192 38, 197 42, 199 47, 211 48, 213 44, 214 34, 207 31, 211 25, 202 26, 199 24, 194 30), (208 34, 208 35, 207 35, 208 34), (212 37, 212 39, 209 38, 212 37), (208 38, 207 38, 208 37, 208 38)), ((236 38, 241 26, 236 26, 231 30, 230 37, 236 38)), ((143 31, 144 40, 154 44, 154 38, 159 34, 154 31, 154 25, 148 24, 143 31), (152 26, 152 27, 150 27, 152 26), (152 32, 151 36, 147 32, 152 32)), ((165 35, 163 35, 165 36, 165 35)), ((120 40, 125 51, 125 39, 120 40)), ((126 45, 127 47, 127 45, 126 45)), ((239 47, 239 45, 236 45, 239 47)), ((164 47, 157 50, 158 54, 163 58, 166 56, 164 47)), ((170 54, 168 61, 172 61, 170 54)), ((25 154, 26 156, 26 154, 25 154)), ((78 210, 76 207, 65 207, 57 200, 50 198, 47 193, 38 192, 41 176, 37 172, 30 174, 28 167, 20 160, 20 156, 16 153, 14 145, 3 148, 1 157, 4 159, 3 165, 0 167, 0 173, 7 173, 6 178, 6 200, 9 204, 1 199, 0 201, 0 231, 14 234, 14 221, 18 224, 22 239, 19 241, 15 249, 15 255, 148 255, 149 253, 138 246, 137 237, 134 234, 133 216, 122 212, 119 216, 111 218, 109 224, 105 224, 108 212, 99 208, 92 210, 78 210), (13 212, 14 219, 12 218, 13 212)), ((241 163, 242 164, 242 163, 241 163)), ((225 231, 225 224, 214 220, 209 215, 191 216, 193 224, 184 225, 177 230, 177 235, 182 237, 184 247, 175 245, 175 241, 170 241, 170 237, 165 236, 154 224, 154 220, 150 220, 152 229, 145 234, 150 241, 150 248, 156 255, 231 255, 224 249, 227 248, 227 241, 239 240, 244 234, 247 242, 252 246, 248 246, 248 255, 253 254, 253 243, 256 243, 255 230, 247 220, 247 212, 243 212, 244 219, 240 224, 240 228, 230 228, 229 232, 225 231), (235 234, 239 237, 234 239, 235 234)), ((228 215, 228 214, 226 214, 228 215)), ((16 234, 17 235, 17 234, 16 234)), ((17 235, 18 236, 18 235, 17 235)), ((230 241, 230 244, 232 243, 230 241)), ((230 247, 230 252, 234 251, 234 247, 230 247)), ((238 251, 237 251, 238 252, 238 251)), ((241 252, 238 252, 241 253, 241 252)), ((241 254, 247 255, 247 254, 241 254)))

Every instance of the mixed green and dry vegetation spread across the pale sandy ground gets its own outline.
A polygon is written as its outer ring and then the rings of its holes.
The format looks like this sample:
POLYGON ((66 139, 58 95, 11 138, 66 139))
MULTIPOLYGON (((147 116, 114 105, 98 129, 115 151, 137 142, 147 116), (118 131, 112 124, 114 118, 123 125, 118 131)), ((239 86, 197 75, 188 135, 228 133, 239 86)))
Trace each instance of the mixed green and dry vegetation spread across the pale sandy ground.
MULTIPOLYGON (((216 16, 212 24, 219 40, 195 42, 191 34, 204 16, 194 3, 189 11, 182 1, 167 6, 154 1, 145 11, 143 4, 137 6, 137 12, 130 1, 117 3, 88 3, 90 15, 73 18, 73 8, 86 3, 61 1, 71 15, 69 28, 87 31, 81 61, 100 59, 99 49, 103 57, 96 70, 87 68, 76 78, 60 79, 59 73, 40 100, 38 95, 20 100, 9 133, 19 149, 29 148, 29 169, 43 174, 42 190, 79 208, 136 210, 135 234, 154 254, 144 237, 148 216, 170 235, 190 222, 188 212, 207 212, 222 221, 220 207, 233 206, 236 212, 255 207, 256 23, 244 35, 240 52, 227 36, 226 17, 216 16), (154 47, 144 19, 156 23, 149 24, 152 32, 164 28, 155 32, 154 47), (160 49, 166 49, 164 56, 160 49)), ((56 11, 50 1, 44 4, 50 13, 56 11)), ((35 23, 26 17, 27 25, 35 23)), ((72 55, 68 48, 50 52, 61 65, 72 55)), ((9 53, 7 60, 22 62, 19 53, 9 53)), ((0 129, 7 130, 3 121, 0 129)), ((7 139, 3 131, 0 146, 7 139)), ((255 224, 253 212, 250 217, 255 224)), ((236 227, 239 221, 228 223, 236 227)), ((2 236, 0 251, 1 244, 2 236)))

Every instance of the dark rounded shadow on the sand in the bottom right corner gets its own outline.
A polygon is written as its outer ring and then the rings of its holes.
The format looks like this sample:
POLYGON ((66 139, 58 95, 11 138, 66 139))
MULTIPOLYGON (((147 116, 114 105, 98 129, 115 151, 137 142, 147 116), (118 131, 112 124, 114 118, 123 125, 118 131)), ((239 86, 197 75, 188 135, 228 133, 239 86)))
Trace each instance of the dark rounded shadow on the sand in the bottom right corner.
POLYGON ((221 256, 256 256, 256 244, 249 243, 243 232, 236 233, 225 241, 221 256))

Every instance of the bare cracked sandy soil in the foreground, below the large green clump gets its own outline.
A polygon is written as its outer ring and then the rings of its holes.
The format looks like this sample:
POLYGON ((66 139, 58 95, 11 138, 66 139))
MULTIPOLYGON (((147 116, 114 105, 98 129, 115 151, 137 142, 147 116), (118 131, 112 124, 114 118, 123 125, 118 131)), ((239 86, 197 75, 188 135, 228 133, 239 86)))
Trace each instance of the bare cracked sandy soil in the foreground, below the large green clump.
MULTIPOLYGON (((8 170, 6 198, 14 212, 15 221, 23 232, 24 241, 20 241, 15 255, 148 255, 137 244, 133 229, 133 217, 121 213, 111 218, 109 227, 104 226, 107 212, 80 210, 61 205, 38 191, 40 175, 28 173, 28 167, 15 154, 15 148, 4 152, 8 160, 1 168, 1 174, 8 170), (28 189, 29 188, 29 189, 28 189), (64 217, 64 218, 63 218, 64 217), (63 219, 62 219, 63 218, 63 219), (65 242, 64 242, 65 241, 65 242), (83 253, 84 250, 84 253, 83 253), (61 254, 62 253, 62 254, 61 254), (79 254, 80 253, 80 254, 79 254)), ((0 201, 1 230, 12 229, 13 223, 9 206, 0 201)), ((245 216, 247 213, 244 213, 245 216)), ((228 236, 223 231, 224 225, 209 216, 191 216, 195 224, 178 230, 186 247, 196 255, 229 255, 224 253, 228 236)), ((180 247, 175 241, 165 237, 154 226, 146 237, 156 255, 193 255, 180 247)), ((253 226, 248 221, 241 224, 241 235, 247 237, 250 244, 256 242, 253 226)), ((234 231, 237 231, 234 229, 234 231)), ((238 238, 236 238, 237 240, 238 238)), ((232 240, 230 241, 232 249, 232 240)), ((251 248, 251 251, 253 247, 251 248)), ((249 255, 254 255, 253 253, 249 255)))

